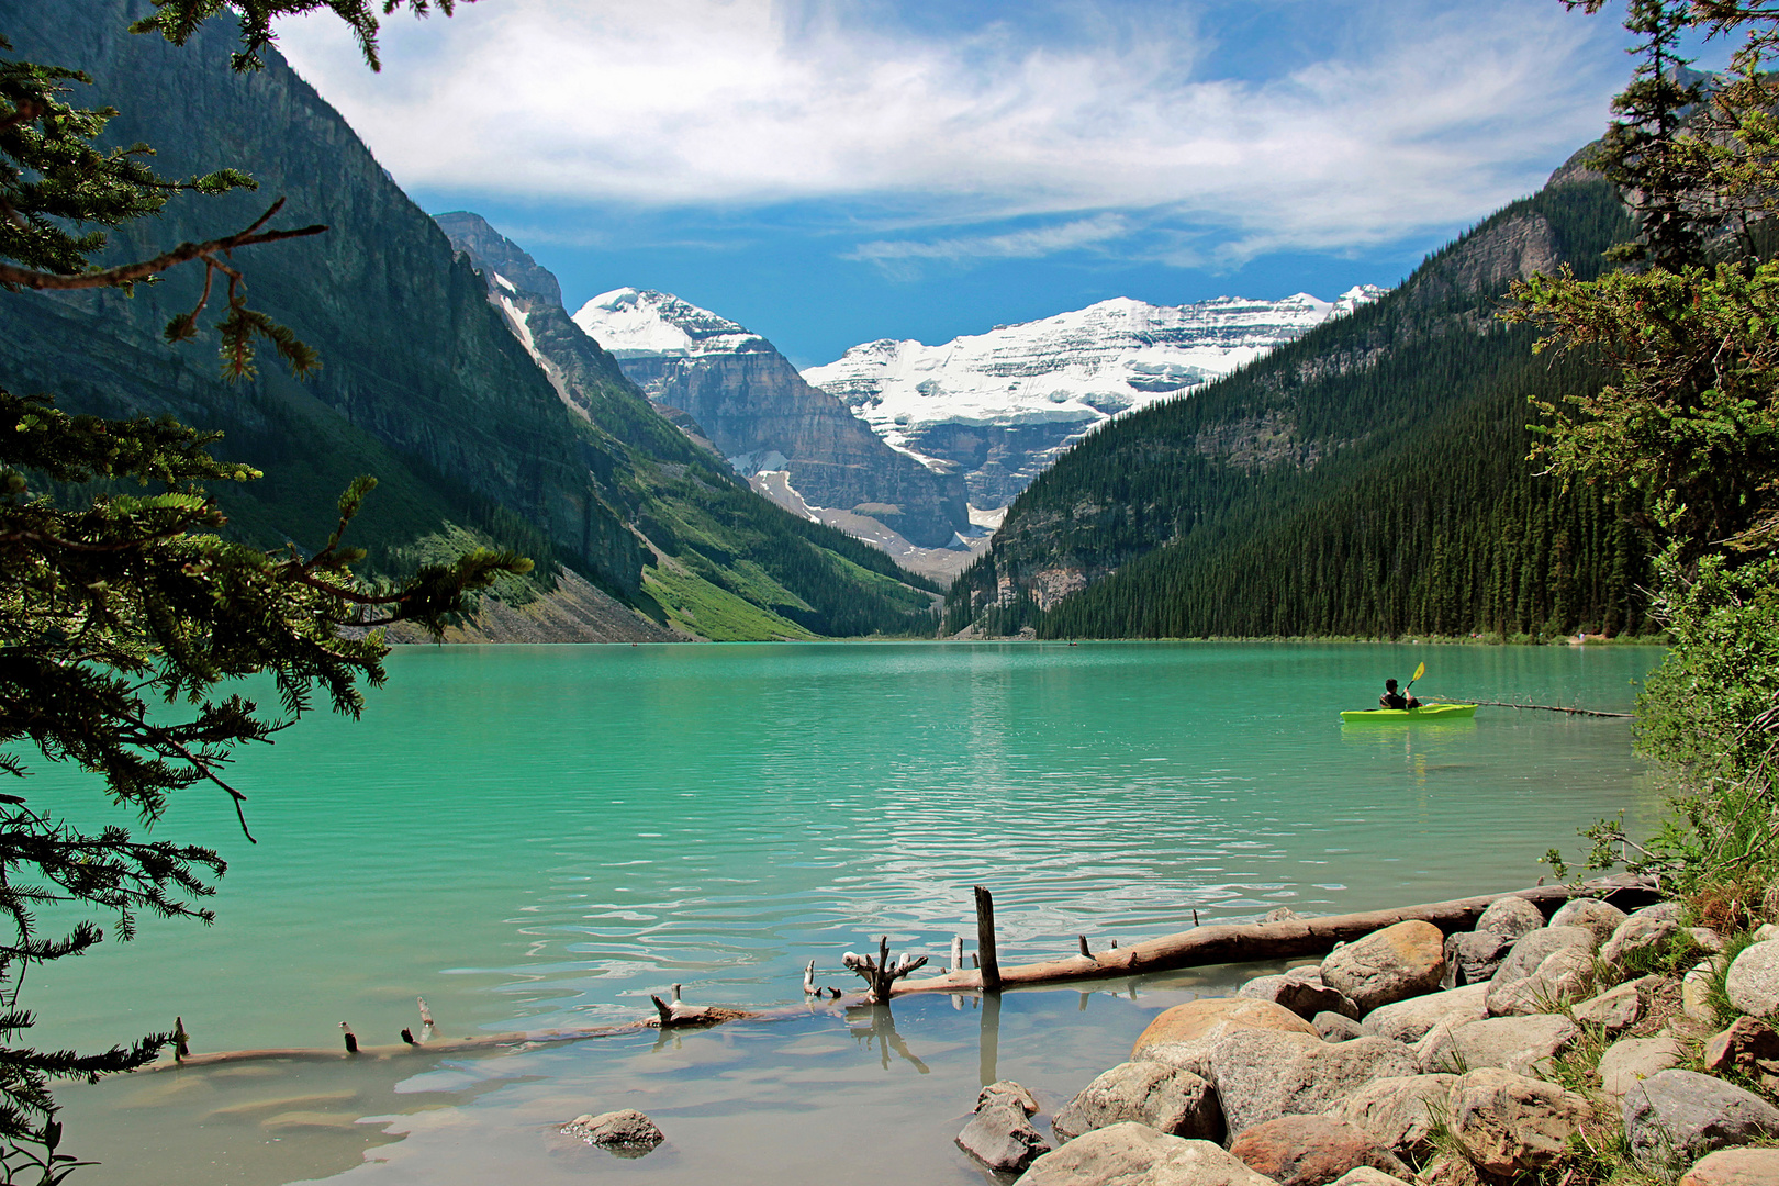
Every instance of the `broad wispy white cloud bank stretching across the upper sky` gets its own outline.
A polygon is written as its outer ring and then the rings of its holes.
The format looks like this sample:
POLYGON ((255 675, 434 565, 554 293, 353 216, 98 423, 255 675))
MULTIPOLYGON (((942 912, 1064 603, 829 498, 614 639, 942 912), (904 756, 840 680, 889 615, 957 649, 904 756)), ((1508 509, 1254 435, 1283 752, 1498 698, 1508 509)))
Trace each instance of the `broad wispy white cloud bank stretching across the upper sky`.
POLYGON ((331 18, 281 32, 404 185, 840 201, 873 212, 854 258, 882 265, 1137 226, 1215 228, 1226 256, 1397 240, 1533 188, 1599 132, 1626 73, 1606 18, 1550 0, 1356 5, 1341 57, 1254 80, 1213 76, 1210 9, 1162 11, 1083 0, 1076 36, 1057 37, 898 28, 845 0, 482 0, 390 21, 382 75, 331 18), (1059 226, 968 233, 1034 217, 1059 226), (950 229, 904 244, 891 224, 950 229))

